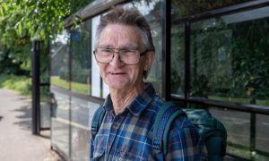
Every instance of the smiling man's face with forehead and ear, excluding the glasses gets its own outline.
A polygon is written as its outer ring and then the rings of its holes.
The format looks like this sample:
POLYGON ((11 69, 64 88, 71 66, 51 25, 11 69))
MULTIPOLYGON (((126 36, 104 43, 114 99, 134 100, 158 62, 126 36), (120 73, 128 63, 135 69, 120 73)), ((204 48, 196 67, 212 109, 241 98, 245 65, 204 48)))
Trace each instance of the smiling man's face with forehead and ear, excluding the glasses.
MULTIPOLYGON (((99 47, 133 48, 143 52, 139 30, 133 26, 109 24, 100 34, 99 47)), ((117 50, 116 50, 117 51, 117 50)), ((140 57, 138 64, 124 64, 115 54, 108 64, 99 64, 100 74, 109 89, 139 88, 143 84, 143 70, 152 64, 151 52, 140 57)))

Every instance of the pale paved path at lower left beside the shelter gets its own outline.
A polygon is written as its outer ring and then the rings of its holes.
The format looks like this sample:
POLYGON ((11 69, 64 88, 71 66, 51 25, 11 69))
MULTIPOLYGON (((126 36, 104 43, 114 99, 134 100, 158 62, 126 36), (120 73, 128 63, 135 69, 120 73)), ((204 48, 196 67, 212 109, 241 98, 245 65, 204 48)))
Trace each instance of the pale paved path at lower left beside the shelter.
POLYGON ((31 134, 31 101, 12 90, 0 89, 0 160, 61 161, 50 150, 49 131, 31 134))

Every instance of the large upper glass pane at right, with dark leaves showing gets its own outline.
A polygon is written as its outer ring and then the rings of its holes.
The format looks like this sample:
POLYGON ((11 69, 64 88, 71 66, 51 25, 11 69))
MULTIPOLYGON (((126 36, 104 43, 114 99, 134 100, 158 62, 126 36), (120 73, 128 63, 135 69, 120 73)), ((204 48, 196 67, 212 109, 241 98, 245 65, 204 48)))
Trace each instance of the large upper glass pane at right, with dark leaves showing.
POLYGON ((191 96, 269 106, 269 7, 192 24, 191 96))

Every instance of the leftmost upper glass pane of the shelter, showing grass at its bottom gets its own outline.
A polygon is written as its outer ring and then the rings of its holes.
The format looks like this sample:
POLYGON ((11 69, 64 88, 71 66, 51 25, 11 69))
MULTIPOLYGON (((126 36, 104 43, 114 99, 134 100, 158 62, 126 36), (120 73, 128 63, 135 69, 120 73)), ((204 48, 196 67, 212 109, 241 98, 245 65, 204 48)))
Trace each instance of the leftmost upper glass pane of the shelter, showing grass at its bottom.
POLYGON ((51 47, 50 55, 50 83, 65 89, 69 89, 68 41, 69 34, 65 30, 57 36, 55 44, 51 47))

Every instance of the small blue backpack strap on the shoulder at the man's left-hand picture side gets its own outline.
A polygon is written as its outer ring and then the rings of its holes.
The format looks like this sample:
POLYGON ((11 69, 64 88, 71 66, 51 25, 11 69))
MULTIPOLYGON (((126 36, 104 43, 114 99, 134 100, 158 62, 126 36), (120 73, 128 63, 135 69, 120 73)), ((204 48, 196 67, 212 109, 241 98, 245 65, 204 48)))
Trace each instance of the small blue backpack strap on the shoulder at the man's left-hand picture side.
POLYGON ((91 121, 91 137, 94 137, 99 131, 100 124, 102 123, 105 114, 106 114, 106 110, 102 106, 100 106, 96 110, 91 121))

